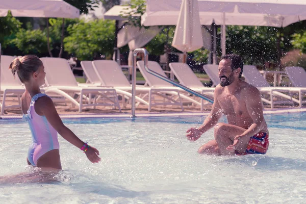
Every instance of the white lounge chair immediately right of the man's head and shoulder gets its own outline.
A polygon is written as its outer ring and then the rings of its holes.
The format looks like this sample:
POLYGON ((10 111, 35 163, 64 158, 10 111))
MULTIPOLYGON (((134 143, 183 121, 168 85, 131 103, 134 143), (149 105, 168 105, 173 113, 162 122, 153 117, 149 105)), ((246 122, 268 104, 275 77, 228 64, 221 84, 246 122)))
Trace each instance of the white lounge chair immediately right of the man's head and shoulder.
MULTIPOLYGON (((271 87, 270 84, 265 80, 263 75, 259 72, 256 66, 253 65, 244 65, 243 66, 243 76, 245 81, 249 84, 257 87, 261 93, 268 94, 270 96, 270 100, 267 98, 262 98, 262 101, 266 104, 269 104, 271 108, 275 104, 292 104, 293 101, 299 104, 299 107, 302 106, 302 98, 300 95, 301 89, 297 87, 271 87), (289 95, 288 95, 288 94, 289 95), (292 97, 293 93, 299 94, 299 99, 292 97), (274 101, 274 97, 281 98, 279 101, 274 101), (284 100, 287 99, 287 100, 284 100)), ((306 90, 306 89, 305 89, 306 90)))

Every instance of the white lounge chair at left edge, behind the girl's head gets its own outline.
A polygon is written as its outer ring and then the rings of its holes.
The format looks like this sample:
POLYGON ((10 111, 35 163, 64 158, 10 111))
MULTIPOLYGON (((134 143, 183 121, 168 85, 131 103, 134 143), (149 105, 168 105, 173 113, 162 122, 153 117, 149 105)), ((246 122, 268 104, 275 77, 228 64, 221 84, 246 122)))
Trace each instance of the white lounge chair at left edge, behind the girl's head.
POLYGON ((1 90, 0 94, 2 94, 2 103, 0 104, 1 115, 4 114, 4 110, 7 108, 20 108, 20 96, 24 92, 24 88, 21 86, 21 82, 17 76, 13 77, 12 71, 9 69, 11 62, 15 59, 13 56, 1 56, 1 90), (16 96, 18 105, 7 106, 7 96, 16 96))

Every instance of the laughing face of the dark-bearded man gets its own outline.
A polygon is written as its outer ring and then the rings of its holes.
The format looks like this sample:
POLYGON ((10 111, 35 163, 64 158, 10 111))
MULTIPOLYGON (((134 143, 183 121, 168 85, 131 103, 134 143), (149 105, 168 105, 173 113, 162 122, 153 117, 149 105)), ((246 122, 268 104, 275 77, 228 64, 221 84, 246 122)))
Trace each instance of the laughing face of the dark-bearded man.
POLYGON ((218 67, 220 85, 222 87, 231 85, 234 82, 234 72, 232 70, 232 60, 221 60, 218 67))

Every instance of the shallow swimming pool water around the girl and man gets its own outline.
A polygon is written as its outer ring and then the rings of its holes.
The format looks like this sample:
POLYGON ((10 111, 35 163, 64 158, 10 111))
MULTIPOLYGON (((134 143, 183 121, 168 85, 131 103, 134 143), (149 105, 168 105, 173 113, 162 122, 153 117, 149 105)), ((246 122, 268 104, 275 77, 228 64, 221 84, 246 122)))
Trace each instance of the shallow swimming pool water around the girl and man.
MULTIPOLYGON (((59 136, 59 183, 0 185, 6 203, 302 203, 306 199, 306 113, 265 115, 266 155, 198 155, 213 130, 185 137, 202 117, 73 119, 65 124, 100 151, 91 164, 59 136)), ((222 119, 225 121, 225 119, 222 119)), ((0 120, 0 176, 28 172, 28 124, 0 120)))

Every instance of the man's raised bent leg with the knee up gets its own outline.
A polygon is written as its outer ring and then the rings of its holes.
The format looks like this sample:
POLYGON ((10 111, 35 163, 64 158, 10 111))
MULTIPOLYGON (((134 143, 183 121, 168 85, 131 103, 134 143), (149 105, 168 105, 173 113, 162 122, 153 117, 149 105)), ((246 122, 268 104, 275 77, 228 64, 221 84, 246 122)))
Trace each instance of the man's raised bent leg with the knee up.
MULTIPOLYGON (((234 139, 237 135, 241 135, 246 129, 232 125, 232 124, 226 124, 226 123, 218 123, 215 126, 215 139, 218 143, 220 154, 221 155, 234 155, 234 152, 227 151, 226 147, 228 145, 232 145, 234 143, 234 139)), ((247 144, 249 142, 248 139, 244 139, 240 141, 242 144, 241 149, 236 149, 239 153, 242 153, 245 151, 247 144)))

